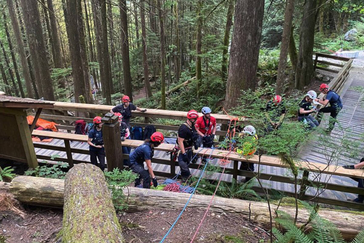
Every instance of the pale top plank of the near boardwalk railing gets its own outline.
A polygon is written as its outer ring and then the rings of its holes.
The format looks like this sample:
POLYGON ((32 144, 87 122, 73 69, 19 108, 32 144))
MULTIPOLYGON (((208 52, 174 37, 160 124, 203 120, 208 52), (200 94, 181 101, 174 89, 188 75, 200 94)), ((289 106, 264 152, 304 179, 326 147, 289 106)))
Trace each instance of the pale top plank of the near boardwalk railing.
MULTIPOLYGON (((34 130, 32 135, 34 136, 41 136, 41 137, 49 137, 49 138, 57 138, 62 140, 71 140, 71 141, 80 141, 80 142, 87 142, 87 135, 79 135, 79 134, 71 134, 71 133, 61 133, 61 132, 48 132, 48 131, 40 131, 40 130, 34 130)), ((122 142, 122 145, 128 146, 131 148, 136 148, 143 144, 143 141, 140 140, 125 140, 122 142)), ((163 143, 159 145, 155 150, 164 151, 164 152, 171 152, 171 150, 174 148, 173 144, 166 144, 163 143)), ((232 161, 243 161, 243 162, 250 162, 254 164, 259 163, 258 156, 253 156, 249 160, 242 157, 241 155, 235 153, 235 152, 227 152, 225 150, 219 150, 214 149, 211 151, 211 149, 203 148, 199 149, 199 152, 197 154, 199 156, 203 156, 206 154, 211 154, 212 158, 219 158, 219 159, 226 159, 232 161)), ((260 164, 262 165, 269 165, 269 166, 275 166, 275 167, 282 167, 282 168, 289 168, 289 165, 283 164, 281 160, 278 157, 274 156, 261 156, 260 164)), ((341 166, 336 165, 326 165, 326 164, 320 164, 316 162, 307 162, 307 161, 301 161, 298 163, 298 166, 302 170, 310 171, 310 172, 319 172, 319 173, 325 173, 330 175, 337 175, 337 176, 349 176, 349 177, 357 177, 357 178, 363 178, 364 179, 364 171, 362 170, 347 170, 344 168, 341 168, 341 166)))

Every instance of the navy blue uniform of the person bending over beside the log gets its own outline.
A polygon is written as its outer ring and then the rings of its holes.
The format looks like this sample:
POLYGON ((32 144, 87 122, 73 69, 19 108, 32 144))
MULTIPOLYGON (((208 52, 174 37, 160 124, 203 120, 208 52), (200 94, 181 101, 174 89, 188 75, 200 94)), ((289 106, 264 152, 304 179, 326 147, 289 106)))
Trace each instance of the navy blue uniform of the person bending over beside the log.
POLYGON ((131 152, 129 156, 130 168, 134 173, 139 174, 139 178, 135 180, 135 186, 140 184, 143 179, 143 188, 150 188, 149 171, 144 169, 144 161, 151 160, 154 155, 154 149, 150 147, 150 143, 146 142, 131 152))

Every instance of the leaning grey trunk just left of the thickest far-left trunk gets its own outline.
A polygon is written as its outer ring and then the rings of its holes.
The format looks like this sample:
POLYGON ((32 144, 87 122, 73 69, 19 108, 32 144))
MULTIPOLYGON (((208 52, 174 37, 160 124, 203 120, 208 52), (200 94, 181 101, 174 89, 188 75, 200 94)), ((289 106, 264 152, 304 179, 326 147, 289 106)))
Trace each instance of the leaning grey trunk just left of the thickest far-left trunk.
POLYGON ((11 25, 13 27, 16 44, 17 44, 17 50, 19 52, 19 58, 21 63, 21 68, 23 70, 23 77, 25 80, 25 86, 27 88, 27 97, 34 98, 33 90, 32 90, 32 79, 30 77, 29 68, 27 66, 27 60, 25 58, 25 52, 24 52, 24 46, 23 42, 21 40, 20 30, 19 30, 19 24, 16 19, 16 13, 13 6, 12 0, 7 0, 7 5, 9 9, 9 16, 11 20, 11 25))

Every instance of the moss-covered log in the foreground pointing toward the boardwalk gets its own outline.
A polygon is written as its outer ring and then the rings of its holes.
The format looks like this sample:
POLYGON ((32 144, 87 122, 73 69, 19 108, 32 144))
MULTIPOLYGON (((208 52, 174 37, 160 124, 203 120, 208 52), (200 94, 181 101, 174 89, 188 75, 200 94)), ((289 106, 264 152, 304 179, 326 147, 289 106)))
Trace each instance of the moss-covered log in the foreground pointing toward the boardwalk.
POLYGON ((64 181, 62 243, 121 243, 121 228, 102 171, 75 165, 64 181))

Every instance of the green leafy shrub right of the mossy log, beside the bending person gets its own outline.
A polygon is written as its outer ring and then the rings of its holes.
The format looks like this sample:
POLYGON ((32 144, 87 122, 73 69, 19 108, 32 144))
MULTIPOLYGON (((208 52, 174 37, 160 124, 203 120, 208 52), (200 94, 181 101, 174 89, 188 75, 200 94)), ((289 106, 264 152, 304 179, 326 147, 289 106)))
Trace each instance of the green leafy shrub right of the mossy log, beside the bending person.
POLYGON ((131 171, 115 168, 113 171, 105 172, 105 178, 108 184, 108 188, 111 191, 111 199, 114 203, 116 211, 124 211, 127 209, 127 199, 123 193, 123 189, 130 185, 138 175, 131 171))

